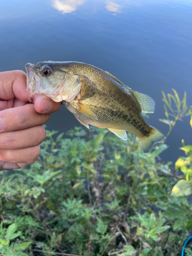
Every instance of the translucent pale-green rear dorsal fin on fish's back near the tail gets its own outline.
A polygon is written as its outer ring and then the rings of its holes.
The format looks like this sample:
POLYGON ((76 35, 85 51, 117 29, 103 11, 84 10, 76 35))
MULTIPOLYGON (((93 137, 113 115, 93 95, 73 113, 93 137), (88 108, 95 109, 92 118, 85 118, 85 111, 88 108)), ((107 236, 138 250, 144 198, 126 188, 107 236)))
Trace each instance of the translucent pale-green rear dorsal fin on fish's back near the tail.
POLYGON ((138 93, 136 91, 131 91, 131 93, 135 96, 138 103, 141 107, 141 112, 143 113, 154 113, 155 111, 155 101, 148 95, 138 93))

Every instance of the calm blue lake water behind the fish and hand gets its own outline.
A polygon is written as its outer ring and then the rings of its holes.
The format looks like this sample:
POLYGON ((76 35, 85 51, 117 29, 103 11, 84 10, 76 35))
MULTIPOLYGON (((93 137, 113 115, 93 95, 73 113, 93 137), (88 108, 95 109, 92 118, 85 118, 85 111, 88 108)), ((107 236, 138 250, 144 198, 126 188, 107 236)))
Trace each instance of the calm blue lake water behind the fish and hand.
MULTIPOLYGON (((133 90, 150 95, 148 123, 166 135, 163 90, 187 92, 192 105, 192 2, 189 0, 9 0, 0 2, 0 71, 27 62, 81 61, 106 70, 133 90)), ((48 129, 79 122, 67 109, 52 114, 48 129)), ((189 117, 178 122, 161 154, 177 160, 181 139, 192 143, 189 117)))

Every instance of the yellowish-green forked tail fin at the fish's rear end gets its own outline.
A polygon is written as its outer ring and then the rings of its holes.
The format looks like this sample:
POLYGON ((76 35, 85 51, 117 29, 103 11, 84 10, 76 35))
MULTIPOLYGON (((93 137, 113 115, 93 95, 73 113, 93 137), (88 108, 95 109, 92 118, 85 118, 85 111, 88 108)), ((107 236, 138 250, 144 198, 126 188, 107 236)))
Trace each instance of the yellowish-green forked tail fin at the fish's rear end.
POLYGON ((157 142, 161 142, 166 137, 160 133, 156 128, 152 127, 152 131, 149 136, 145 136, 143 138, 138 138, 139 146, 143 153, 147 154, 152 150, 153 144, 157 142))

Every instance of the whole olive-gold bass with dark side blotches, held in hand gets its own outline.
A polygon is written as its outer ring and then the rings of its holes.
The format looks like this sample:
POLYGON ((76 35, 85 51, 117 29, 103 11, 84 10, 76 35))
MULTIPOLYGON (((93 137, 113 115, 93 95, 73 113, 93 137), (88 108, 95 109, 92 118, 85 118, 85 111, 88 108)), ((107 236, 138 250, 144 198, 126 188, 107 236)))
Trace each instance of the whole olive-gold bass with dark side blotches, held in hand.
POLYGON ((166 138, 141 114, 154 113, 155 101, 107 71, 76 61, 42 61, 27 63, 26 72, 30 102, 46 95, 61 102, 87 128, 108 129, 122 140, 130 132, 145 154, 166 138))

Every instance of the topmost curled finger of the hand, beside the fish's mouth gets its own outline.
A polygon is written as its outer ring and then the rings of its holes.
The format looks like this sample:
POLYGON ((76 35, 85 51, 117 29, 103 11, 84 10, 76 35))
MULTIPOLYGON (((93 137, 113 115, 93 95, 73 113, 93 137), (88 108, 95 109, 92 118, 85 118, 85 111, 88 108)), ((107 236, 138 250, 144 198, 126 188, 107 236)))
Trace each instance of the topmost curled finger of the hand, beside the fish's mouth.
POLYGON ((22 70, 0 72, 0 98, 28 101, 26 74, 22 70))

